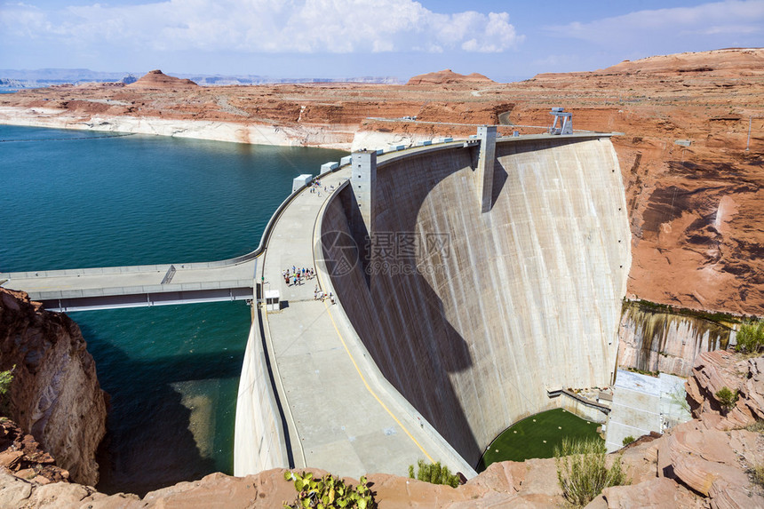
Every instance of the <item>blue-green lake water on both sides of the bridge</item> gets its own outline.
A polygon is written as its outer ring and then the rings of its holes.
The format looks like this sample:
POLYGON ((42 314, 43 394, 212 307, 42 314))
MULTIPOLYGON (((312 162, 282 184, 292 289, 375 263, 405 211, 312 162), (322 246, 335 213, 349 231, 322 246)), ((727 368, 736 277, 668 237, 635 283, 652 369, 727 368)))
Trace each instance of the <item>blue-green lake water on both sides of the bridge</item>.
MULTIPOLYGON (((232 258, 345 153, 0 125, 0 272, 232 258)), ((72 313, 111 396, 99 489, 232 473, 243 302, 72 313)))

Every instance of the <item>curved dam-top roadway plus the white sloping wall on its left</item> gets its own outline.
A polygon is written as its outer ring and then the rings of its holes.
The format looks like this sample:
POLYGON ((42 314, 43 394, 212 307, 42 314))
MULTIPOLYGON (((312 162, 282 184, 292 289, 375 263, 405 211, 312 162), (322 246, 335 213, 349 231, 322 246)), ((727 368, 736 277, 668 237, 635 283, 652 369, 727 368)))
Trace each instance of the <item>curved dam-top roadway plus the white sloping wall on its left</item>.
MULTIPOLYGON (((337 192, 349 177, 344 167, 320 182, 337 192)), ((319 466, 356 478, 371 472, 406 475, 418 458, 440 459, 474 475, 374 366, 341 305, 314 300, 316 284, 330 291, 321 253, 314 252, 320 249, 317 226, 329 197, 323 190, 303 191, 292 200, 260 258, 265 291, 278 290, 283 309, 259 310, 265 341, 255 326, 247 345, 236 412, 235 474, 288 466, 290 457, 297 467, 319 466), (282 273, 292 266, 315 266, 317 278, 287 286, 282 273), (263 383, 266 353, 275 378, 273 396, 263 383), (289 448, 276 397, 283 403, 289 448)))

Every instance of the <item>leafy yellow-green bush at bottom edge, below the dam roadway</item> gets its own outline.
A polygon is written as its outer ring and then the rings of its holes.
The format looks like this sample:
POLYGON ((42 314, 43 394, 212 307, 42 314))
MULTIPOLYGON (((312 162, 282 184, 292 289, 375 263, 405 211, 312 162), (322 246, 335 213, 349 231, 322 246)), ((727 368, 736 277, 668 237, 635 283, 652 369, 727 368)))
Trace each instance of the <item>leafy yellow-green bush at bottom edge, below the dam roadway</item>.
POLYGON ((370 509, 374 505, 374 497, 364 476, 355 488, 346 486, 345 482, 330 473, 321 479, 314 479, 310 472, 303 475, 285 472, 284 479, 294 481, 294 489, 297 490, 297 500, 291 504, 284 502, 285 509, 370 509))

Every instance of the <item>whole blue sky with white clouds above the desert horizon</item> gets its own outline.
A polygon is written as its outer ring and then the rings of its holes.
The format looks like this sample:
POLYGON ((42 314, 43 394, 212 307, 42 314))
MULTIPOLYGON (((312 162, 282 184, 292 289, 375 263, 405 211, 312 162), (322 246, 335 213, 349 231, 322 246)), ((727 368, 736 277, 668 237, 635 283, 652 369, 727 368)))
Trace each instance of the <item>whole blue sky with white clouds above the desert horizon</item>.
POLYGON ((508 82, 764 46, 764 0, 0 0, 0 68, 508 82))

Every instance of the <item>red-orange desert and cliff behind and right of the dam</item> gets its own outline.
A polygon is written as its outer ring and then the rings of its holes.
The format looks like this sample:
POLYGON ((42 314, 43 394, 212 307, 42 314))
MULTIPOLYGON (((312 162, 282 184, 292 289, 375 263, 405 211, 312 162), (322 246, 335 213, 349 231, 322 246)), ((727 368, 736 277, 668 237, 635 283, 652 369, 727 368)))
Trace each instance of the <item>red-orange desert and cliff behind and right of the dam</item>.
POLYGON ((482 123, 537 133, 551 107, 572 111, 574 129, 623 133, 613 143, 633 234, 630 297, 764 315, 764 49, 513 84, 441 71, 405 85, 201 87, 152 71, 127 85, 3 94, 0 123, 355 149, 482 123))

